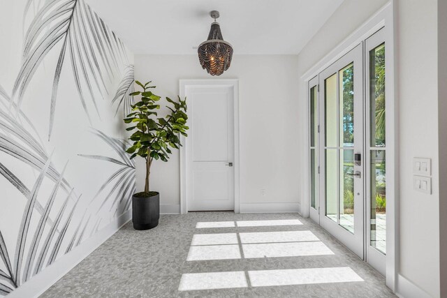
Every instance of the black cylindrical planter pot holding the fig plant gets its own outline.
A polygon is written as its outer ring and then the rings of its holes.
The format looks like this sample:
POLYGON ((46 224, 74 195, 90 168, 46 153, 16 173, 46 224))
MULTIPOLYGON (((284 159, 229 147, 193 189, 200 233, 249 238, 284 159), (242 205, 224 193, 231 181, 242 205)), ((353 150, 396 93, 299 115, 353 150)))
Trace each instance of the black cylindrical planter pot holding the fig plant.
POLYGON ((160 194, 152 197, 132 197, 132 222, 135 230, 149 230, 159 225, 160 194))

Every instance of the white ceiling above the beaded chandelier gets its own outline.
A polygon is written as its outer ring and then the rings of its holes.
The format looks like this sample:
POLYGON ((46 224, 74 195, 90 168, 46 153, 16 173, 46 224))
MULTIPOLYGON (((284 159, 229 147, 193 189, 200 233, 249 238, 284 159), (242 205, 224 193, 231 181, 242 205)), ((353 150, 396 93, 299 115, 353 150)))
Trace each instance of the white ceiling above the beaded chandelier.
POLYGON ((195 54, 219 10, 235 54, 298 54, 343 0, 87 0, 135 54, 195 54))

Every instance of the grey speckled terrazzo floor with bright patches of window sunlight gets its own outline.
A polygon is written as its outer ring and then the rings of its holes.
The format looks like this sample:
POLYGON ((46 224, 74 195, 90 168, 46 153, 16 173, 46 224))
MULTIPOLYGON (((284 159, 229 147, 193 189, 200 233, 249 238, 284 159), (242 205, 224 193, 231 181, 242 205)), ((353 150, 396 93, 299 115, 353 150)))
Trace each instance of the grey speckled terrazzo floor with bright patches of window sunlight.
POLYGON ((298 214, 197 212, 127 223, 41 297, 395 297, 298 214))

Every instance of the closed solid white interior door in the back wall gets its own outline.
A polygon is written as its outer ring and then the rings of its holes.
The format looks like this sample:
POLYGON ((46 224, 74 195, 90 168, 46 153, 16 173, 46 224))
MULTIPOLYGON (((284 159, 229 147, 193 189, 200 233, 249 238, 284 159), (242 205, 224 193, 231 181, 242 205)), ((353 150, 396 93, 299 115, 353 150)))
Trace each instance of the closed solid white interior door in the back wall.
POLYGON ((185 87, 187 211, 235 209, 234 88, 185 87))

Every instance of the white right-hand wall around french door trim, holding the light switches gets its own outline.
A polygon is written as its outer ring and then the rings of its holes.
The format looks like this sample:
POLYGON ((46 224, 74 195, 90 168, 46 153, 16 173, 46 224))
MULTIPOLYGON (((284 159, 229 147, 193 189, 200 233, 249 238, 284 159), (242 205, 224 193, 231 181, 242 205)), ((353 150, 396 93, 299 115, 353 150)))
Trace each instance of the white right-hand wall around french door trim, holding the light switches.
MULTIPOLYGON (((387 1, 346 0, 298 57, 304 74, 387 1)), ((397 272, 439 297, 439 169, 437 119, 437 1, 398 1, 396 43, 400 129, 400 268, 397 272), (432 195, 413 191, 412 158, 432 158, 432 195)), ((302 94, 300 90, 300 95, 302 94)), ((307 136, 307 98, 300 98, 300 140, 307 136)), ((307 147, 299 147, 299 155, 307 147)), ((304 159, 300 163, 305 163, 304 159)), ((305 183, 307 172, 300 172, 305 183)), ((307 185, 301 185, 307 200, 307 185)))

